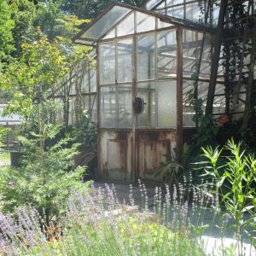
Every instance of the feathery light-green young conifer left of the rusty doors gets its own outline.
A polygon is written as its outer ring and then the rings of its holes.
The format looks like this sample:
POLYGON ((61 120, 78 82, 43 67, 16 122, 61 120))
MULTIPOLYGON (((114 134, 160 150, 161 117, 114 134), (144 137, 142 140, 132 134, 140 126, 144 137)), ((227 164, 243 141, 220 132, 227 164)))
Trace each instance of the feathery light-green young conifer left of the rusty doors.
POLYGON ((48 221, 58 218, 65 209, 62 205, 71 189, 82 189, 84 167, 71 171, 73 157, 79 143, 65 135, 46 147, 46 139, 54 139, 61 127, 52 122, 55 104, 44 102, 32 109, 30 138, 19 137, 21 160, 19 168, 6 167, 0 174, 0 191, 3 210, 13 212, 15 207, 30 204, 48 221))

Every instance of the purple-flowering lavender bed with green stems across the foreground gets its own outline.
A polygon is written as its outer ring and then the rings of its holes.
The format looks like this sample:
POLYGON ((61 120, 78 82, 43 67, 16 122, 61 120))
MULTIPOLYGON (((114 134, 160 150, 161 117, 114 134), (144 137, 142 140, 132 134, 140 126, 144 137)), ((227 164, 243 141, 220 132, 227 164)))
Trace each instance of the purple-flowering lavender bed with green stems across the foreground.
MULTIPOLYGON (((170 189, 156 188, 154 206, 140 183, 143 203, 137 206, 132 186, 130 204, 120 203, 113 186, 92 184, 90 193, 73 189, 67 212, 58 226, 48 227, 31 207, 0 214, 0 253, 7 255, 216 255, 207 252, 201 230, 207 211, 218 206, 210 191, 186 180, 170 189), (163 190, 166 189, 165 192, 163 190), (189 190, 192 197, 187 196, 189 190), (214 206, 214 207, 213 207, 214 206), (153 209, 154 208, 154 209, 153 209), (44 226, 44 229, 42 229, 44 226)), ((141 190, 141 191, 140 191, 141 190)), ((236 255, 232 247, 218 247, 222 255, 236 255)), ((253 255, 253 254, 252 254, 253 255)))

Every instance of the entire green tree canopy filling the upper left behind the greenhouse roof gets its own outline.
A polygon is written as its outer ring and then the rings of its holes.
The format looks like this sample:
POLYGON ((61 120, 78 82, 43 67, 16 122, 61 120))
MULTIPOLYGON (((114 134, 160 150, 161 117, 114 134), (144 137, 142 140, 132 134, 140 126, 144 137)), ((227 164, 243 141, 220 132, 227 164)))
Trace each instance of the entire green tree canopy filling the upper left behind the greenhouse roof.
MULTIPOLYGON (((27 115, 38 92, 53 89, 79 62, 90 59, 90 48, 73 45, 71 39, 112 2, 0 2, 0 103, 9 103, 7 113, 27 115)), ((119 2, 138 6, 144 1, 119 2)))

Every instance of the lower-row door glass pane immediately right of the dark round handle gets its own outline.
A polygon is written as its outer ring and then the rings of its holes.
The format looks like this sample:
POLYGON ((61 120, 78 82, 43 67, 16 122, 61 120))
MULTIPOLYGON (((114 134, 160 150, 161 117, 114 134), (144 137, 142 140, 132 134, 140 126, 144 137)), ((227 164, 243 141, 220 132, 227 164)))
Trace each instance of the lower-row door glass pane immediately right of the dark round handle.
POLYGON ((143 113, 137 114, 137 125, 141 127, 155 127, 154 82, 138 83, 137 96, 143 98, 145 102, 143 113))

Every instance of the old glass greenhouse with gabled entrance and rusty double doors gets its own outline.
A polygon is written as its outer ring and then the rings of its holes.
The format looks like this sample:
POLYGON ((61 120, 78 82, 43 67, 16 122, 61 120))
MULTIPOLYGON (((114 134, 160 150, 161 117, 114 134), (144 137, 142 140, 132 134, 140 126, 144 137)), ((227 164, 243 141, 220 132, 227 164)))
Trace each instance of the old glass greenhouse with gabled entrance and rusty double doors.
MULTIPOLYGON (((184 2, 148 1, 143 8, 113 3, 73 38, 96 49, 101 177, 152 178, 166 155, 178 157, 195 132, 191 98, 207 108, 219 5, 207 15, 207 1, 184 2)), ((211 113, 216 116, 230 110, 221 58, 211 113)), ((236 93, 244 102, 242 85, 236 93)), ((244 103, 237 113, 241 108, 244 103)))

